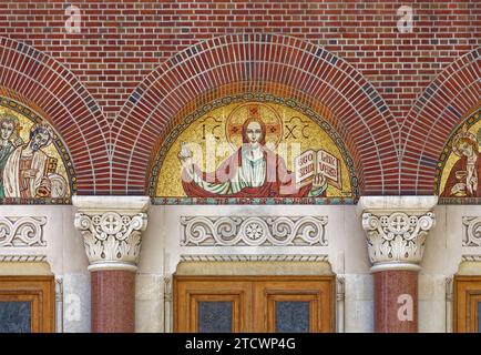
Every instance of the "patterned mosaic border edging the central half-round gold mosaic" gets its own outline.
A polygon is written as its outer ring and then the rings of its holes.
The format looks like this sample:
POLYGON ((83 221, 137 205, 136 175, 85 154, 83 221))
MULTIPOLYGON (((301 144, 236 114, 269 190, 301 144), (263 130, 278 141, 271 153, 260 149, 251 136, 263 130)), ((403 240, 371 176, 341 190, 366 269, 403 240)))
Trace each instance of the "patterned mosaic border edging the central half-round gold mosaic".
POLYGON ((355 204, 359 197, 359 180, 356 175, 356 170, 354 166, 352 158, 349 154, 341 136, 330 126, 328 122, 326 122, 320 115, 318 115, 311 109, 291 100, 285 99, 280 97, 276 97, 267 93, 242 93, 236 95, 224 97, 222 99, 216 99, 211 103, 202 105, 202 108, 195 110, 191 114, 187 114, 185 120, 182 121, 178 125, 176 125, 166 136, 165 141, 161 145, 158 150, 154 163, 152 165, 150 178, 149 178, 149 195, 152 199, 153 204, 355 204), (297 110, 314 122, 320 125, 320 128, 332 139, 336 146, 339 149, 340 154, 346 163, 350 183, 352 187, 352 195, 349 197, 270 197, 270 199, 240 199, 240 197, 166 197, 166 196, 156 196, 156 186, 158 180, 158 172, 162 168, 164 159, 168 152, 168 150, 174 144, 175 140, 178 135, 186 130, 191 123, 195 120, 199 119, 205 113, 218 109, 232 103, 243 103, 243 102, 263 102, 263 103, 276 103, 286 105, 293 110, 297 110))

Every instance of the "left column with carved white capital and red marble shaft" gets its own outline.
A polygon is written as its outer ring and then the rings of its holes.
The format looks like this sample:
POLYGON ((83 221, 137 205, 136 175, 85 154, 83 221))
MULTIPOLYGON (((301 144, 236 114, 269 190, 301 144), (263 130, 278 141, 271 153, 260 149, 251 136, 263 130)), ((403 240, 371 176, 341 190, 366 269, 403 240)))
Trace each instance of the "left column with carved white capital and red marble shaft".
POLYGON ((146 196, 73 196, 89 257, 93 333, 135 332, 135 273, 146 196))

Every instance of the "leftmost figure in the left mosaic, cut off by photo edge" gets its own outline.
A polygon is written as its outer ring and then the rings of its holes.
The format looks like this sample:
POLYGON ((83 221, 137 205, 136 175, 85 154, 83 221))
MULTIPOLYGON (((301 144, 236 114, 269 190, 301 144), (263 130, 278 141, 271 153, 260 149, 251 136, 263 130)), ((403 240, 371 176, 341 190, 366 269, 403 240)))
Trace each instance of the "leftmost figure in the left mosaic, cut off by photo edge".
POLYGON ((3 189, 3 170, 7 160, 17 146, 23 144, 18 135, 19 119, 13 114, 3 113, 0 115, 0 199, 6 196, 3 189))

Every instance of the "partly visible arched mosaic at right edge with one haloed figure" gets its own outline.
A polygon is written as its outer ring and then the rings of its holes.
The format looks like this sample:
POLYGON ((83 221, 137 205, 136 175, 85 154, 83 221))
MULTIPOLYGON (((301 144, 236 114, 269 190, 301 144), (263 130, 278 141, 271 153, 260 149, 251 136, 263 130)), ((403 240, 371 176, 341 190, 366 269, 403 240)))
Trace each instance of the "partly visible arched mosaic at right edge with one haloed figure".
POLYGON ((451 134, 439 158, 436 193, 439 202, 481 202, 481 106, 451 134))

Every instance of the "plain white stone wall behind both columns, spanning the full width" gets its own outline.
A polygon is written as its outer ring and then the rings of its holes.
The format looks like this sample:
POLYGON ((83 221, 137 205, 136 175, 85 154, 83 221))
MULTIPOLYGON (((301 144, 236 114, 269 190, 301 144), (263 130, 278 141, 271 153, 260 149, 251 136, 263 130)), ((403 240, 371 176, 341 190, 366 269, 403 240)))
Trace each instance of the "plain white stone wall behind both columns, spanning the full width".
MULTIPOLYGON (((90 331, 90 275, 80 233, 73 227, 72 206, 0 206, 1 216, 47 216, 44 248, 0 247, 8 253, 44 253, 55 277, 63 280, 63 332, 90 331)), ((419 277, 420 332, 449 331, 446 280, 458 272, 464 254, 480 247, 462 247, 462 217, 481 216, 481 206, 437 206, 437 225, 430 232, 419 277)), ((170 280, 183 254, 327 254, 332 272, 345 277, 345 332, 372 332, 373 292, 365 232, 352 205, 203 205, 151 206, 143 233, 136 280, 136 331, 168 332, 170 280), (181 246, 181 216, 215 215, 326 215, 327 246, 181 246), (166 291, 166 292, 165 292, 166 291), (166 314, 166 316, 164 316, 166 314)), ((480 263, 481 264, 481 263, 480 263)))

